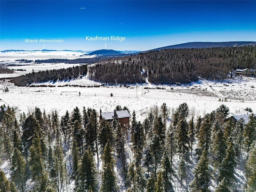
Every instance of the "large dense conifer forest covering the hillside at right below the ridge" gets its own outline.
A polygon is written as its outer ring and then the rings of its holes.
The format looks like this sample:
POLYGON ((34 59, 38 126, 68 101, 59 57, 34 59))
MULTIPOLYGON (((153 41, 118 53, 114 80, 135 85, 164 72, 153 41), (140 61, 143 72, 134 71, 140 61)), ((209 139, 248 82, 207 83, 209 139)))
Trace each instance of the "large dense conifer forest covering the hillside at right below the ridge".
POLYGON ((254 68, 255 63, 255 46, 164 49, 98 64, 90 68, 90 78, 110 84, 140 83, 146 77, 154 84, 189 83, 199 78, 224 80, 228 72, 254 68))

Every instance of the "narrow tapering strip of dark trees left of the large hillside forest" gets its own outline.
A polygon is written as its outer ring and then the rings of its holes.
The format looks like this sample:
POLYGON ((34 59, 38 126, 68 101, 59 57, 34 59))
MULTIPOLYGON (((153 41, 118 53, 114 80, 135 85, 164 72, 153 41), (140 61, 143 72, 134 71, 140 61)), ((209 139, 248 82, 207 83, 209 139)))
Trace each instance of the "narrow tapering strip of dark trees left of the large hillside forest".
POLYGON ((34 82, 47 82, 57 80, 69 80, 72 78, 78 78, 87 74, 87 66, 76 66, 62 69, 46 70, 39 72, 32 72, 26 75, 18 76, 10 80, 17 86, 27 86, 34 82))

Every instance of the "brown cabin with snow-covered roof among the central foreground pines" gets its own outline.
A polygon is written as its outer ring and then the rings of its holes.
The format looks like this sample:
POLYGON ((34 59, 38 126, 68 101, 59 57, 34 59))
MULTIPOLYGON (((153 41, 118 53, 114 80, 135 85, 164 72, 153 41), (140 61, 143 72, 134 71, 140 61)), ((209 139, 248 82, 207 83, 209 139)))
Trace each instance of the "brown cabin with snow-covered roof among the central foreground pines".
MULTIPOLYGON (((118 116, 121 126, 129 128, 130 114, 128 110, 116 111, 116 114, 118 116)), ((113 120, 113 116, 114 116, 114 112, 101 112, 100 110, 100 121, 105 119, 108 122, 110 122, 113 120)))

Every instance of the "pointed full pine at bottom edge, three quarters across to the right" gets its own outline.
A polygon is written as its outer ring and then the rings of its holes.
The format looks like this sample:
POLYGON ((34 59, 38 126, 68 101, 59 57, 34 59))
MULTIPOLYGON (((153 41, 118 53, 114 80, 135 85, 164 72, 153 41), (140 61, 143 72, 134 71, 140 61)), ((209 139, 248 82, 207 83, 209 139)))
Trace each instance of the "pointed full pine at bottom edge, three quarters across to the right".
POLYGON ((208 156, 206 151, 204 151, 194 168, 194 179, 190 183, 191 192, 210 192, 210 178, 208 156))

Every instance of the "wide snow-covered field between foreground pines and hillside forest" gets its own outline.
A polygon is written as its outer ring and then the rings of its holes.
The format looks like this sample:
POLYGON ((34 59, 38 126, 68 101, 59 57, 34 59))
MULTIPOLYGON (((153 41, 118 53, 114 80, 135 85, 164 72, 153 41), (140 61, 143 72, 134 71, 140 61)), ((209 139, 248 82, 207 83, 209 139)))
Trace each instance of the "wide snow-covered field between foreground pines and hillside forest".
POLYGON ((20 112, 28 112, 35 106, 45 109, 46 112, 57 110, 59 115, 64 115, 66 110, 72 111, 76 106, 95 108, 102 112, 113 111, 117 105, 127 106, 135 110, 141 119, 146 111, 153 105, 166 103, 170 108, 176 108, 186 102, 190 109, 194 109, 195 116, 215 110, 220 104, 225 104, 230 112, 250 107, 256 112, 256 84, 255 79, 232 80, 227 82, 214 82, 202 80, 190 85, 181 86, 154 86, 150 84, 124 86, 93 86, 99 84, 86 77, 69 82, 48 82, 55 87, 17 87, 12 83, 0 82, 0 89, 8 86, 9 92, 0 92, 0 98, 10 106, 17 106, 20 112), (58 87, 68 84, 69 86, 58 87), (72 86, 74 85, 74 86, 72 86), (149 89, 145 89, 149 88, 149 89), (79 96, 80 92, 80 96, 79 96), (113 97, 110 96, 113 94, 113 97), (227 98, 228 102, 220 102, 219 98, 227 98), (236 98, 236 100, 234 99, 236 98))

